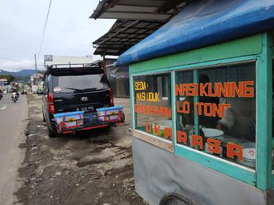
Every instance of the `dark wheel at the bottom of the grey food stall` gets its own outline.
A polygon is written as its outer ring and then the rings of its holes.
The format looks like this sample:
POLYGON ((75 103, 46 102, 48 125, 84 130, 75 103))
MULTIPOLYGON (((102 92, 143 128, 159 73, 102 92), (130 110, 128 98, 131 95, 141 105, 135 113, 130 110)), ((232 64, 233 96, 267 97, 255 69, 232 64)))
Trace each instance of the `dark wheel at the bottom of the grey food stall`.
POLYGON ((170 193, 163 196, 159 205, 198 205, 185 194, 170 193))

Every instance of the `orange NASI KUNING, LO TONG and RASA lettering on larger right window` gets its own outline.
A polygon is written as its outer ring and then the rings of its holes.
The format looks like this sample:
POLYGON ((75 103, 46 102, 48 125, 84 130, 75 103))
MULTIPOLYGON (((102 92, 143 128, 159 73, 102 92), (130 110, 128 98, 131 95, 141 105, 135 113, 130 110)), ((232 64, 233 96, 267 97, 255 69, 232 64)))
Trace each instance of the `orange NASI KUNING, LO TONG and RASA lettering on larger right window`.
MULTIPOLYGON (((218 98, 254 98, 254 82, 225 82, 225 83, 180 83, 176 84, 176 96, 199 96, 199 97, 218 97, 218 98), (214 85, 213 85, 214 84, 214 85), (214 90, 213 90, 214 88, 214 90)), ((230 103, 212 103, 212 102, 194 102, 193 107, 188 100, 177 100, 177 112, 190 114, 191 108, 194 109, 195 115, 206 117, 225 117, 225 109, 232 108, 230 103)), ((221 133, 221 132, 220 132, 221 133)), ((188 143, 188 134, 184 131, 177 131, 177 142, 188 143)), ((203 149, 203 137, 201 135, 191 135, 191 147, 198 146, 203 149)), ((208 137, 206 140, 207 149, 213 154, 220 154, 220 140, 208 137)), ((233 159, 235 156, 243 161, 243 147, 239 144, 227 144, 227 157, 233 159)))

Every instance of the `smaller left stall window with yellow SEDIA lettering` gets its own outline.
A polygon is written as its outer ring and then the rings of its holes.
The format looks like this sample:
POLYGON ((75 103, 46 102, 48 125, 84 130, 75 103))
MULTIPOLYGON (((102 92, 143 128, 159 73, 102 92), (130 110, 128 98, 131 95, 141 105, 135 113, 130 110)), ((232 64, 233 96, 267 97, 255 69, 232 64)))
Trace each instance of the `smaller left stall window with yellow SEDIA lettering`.
POLYGON ((171 74, 133 77, 136 129, 172 140, 171 74))

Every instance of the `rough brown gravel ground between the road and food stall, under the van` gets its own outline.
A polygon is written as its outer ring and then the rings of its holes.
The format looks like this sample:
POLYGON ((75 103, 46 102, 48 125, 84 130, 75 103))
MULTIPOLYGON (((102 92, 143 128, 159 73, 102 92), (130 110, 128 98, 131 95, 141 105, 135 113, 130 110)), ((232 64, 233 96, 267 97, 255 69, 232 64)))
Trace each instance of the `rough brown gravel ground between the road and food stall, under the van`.
POLYGON ((21 204, 143 204, 134 191, 129 100, 116 98, 125 106, 125 125, 47 136, 41 113, 41 96, 28 95, 29 126, 24 164, 16 192, 21 204))

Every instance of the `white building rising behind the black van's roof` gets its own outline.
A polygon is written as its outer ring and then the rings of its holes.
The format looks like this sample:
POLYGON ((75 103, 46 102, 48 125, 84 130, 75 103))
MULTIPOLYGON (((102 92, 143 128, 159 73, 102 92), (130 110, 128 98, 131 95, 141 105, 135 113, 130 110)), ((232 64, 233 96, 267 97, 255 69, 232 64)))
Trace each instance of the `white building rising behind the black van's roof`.
POLYGON ((44 56, 45 68, 55 64, 75 64, 75 63, 92 63, 92 56, 44 56))

